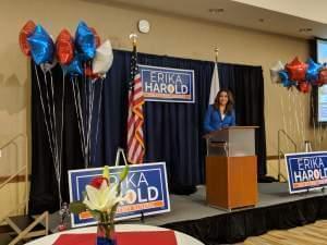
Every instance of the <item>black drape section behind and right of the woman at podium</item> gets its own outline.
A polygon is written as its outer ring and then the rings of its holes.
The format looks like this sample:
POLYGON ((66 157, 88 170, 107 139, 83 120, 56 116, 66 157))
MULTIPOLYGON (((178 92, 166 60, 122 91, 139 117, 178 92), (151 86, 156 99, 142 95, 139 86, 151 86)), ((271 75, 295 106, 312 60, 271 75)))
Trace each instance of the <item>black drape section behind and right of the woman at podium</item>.
POLYGON ((266 170, 265 90, 262 66, 219 64, 221 88, 228 88, 235 98, 237 124, 259 126, 255 132, 255 152, 258 177, 266 170))

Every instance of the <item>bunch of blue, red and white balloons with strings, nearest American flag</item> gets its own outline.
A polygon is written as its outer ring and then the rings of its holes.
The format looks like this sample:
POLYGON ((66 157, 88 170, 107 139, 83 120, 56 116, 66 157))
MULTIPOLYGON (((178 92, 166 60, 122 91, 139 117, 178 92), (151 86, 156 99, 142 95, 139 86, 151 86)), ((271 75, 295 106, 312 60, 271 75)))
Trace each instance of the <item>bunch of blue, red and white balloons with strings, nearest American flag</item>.
POLYGON ((96 82, 100 83, 100 96, 98 99, 95 144, 97 144, 98 138, 98 119, 102 99, 104 79, 112 64, 113 56, 110 41, 106 40, 104 44, 100 44, 100 38, 96 30, 88 27, 84 22, 80 22, 75 33, 75 49, 77 53, 71 63, 63 68, 63 71, 72 74, 71 82, 83 148, 82 152, 85 168, 88 168, 90 164, 90 136, 96 82), (81 77, 82 84, 80 83, 81 77))

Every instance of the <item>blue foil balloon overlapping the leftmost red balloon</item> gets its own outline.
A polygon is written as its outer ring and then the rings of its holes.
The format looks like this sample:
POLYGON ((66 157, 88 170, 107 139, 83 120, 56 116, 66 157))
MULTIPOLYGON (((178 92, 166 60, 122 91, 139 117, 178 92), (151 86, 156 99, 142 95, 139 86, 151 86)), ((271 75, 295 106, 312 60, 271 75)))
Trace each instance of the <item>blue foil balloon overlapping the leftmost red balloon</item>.
POLYGON ((37 25, 34 33, 27 38, 31 54, 36 64, 51 62, 53 60, 55 45, 49 34, 37 25))

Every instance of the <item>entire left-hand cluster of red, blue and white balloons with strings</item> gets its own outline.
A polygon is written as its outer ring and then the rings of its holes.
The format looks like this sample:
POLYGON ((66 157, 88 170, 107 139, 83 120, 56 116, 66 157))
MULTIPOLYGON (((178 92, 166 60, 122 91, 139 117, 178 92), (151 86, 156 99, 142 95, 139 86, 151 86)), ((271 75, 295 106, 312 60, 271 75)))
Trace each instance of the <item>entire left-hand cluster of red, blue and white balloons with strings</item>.
POLYGON ((41 25, 28 21, 20 32, 19 41, 22 52, 34 61, 37 89, 58 184, 59 201, 62 206, 64 203, 62 201, 60 183, 65 77, 69 77, 72 84, 82 152, 85 168, 88 168, 90 164, 95 87, 97 83, 100 83, 95 128, 96 145, 104 81, 113 61, 111 44, 109 40, 100 44, 100 37, 96 29, 88 27, 84 22, 78 23, 75 39, 68 29, 62 29, 55 45, 41 25), (57 63, 62 69, 60 108, 56 103, 57 95, 55 94, 52 76, 52 69, 57 63))

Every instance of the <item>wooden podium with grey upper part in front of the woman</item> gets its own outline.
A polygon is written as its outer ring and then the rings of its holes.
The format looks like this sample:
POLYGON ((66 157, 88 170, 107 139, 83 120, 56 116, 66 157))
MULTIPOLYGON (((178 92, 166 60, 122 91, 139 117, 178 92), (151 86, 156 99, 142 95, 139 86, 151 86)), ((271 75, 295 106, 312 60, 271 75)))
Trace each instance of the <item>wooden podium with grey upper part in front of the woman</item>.
POLYGON ((228 210, 256 205, 255 128, 232 126, 205 135, 208 205, 228 210))

